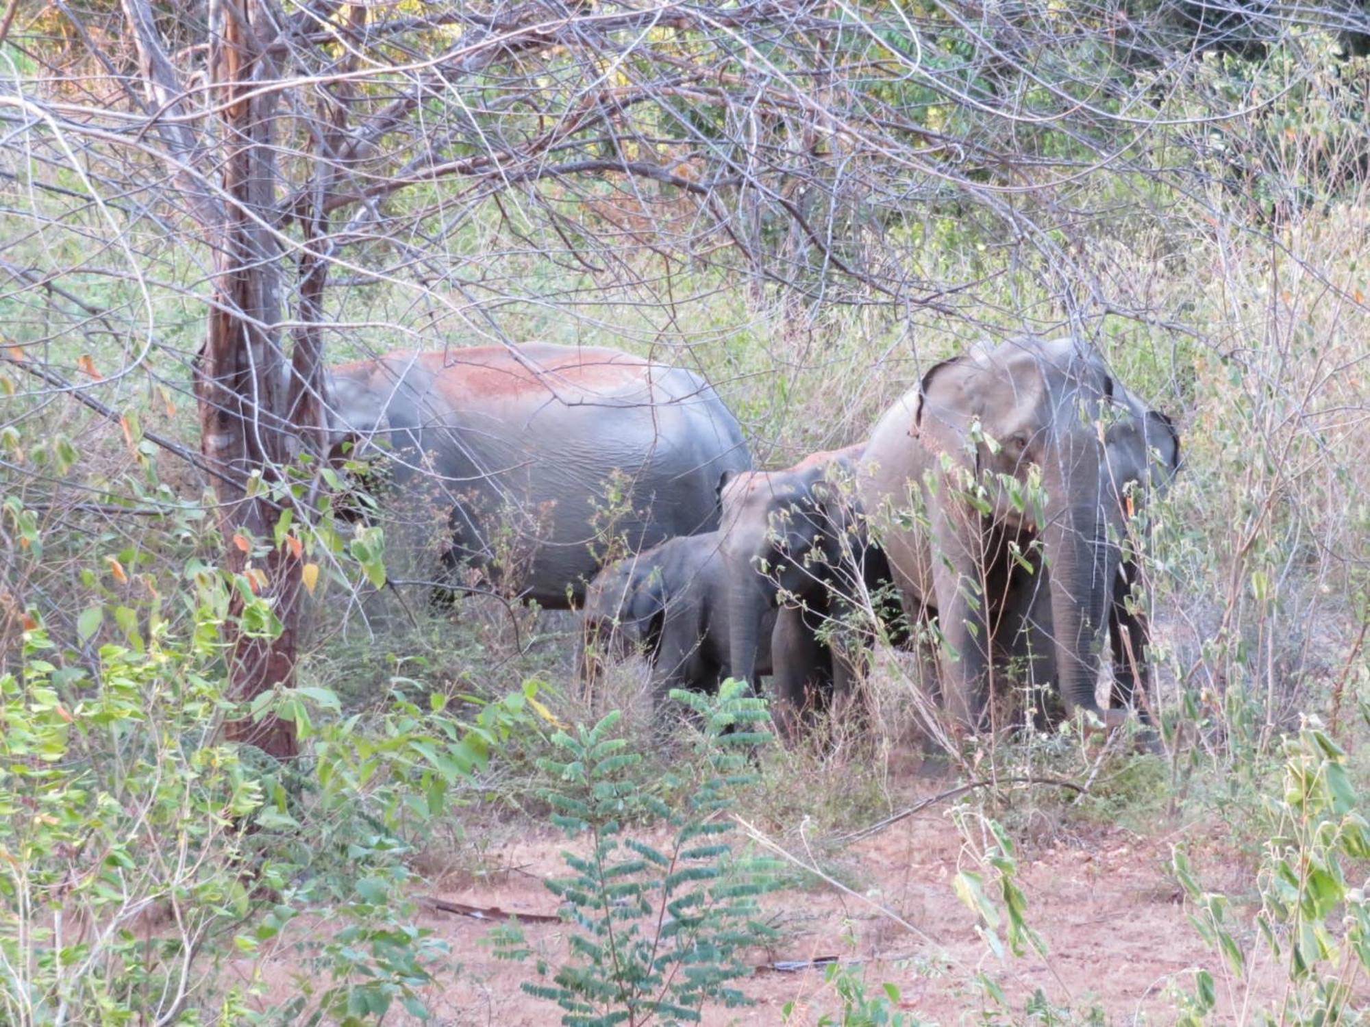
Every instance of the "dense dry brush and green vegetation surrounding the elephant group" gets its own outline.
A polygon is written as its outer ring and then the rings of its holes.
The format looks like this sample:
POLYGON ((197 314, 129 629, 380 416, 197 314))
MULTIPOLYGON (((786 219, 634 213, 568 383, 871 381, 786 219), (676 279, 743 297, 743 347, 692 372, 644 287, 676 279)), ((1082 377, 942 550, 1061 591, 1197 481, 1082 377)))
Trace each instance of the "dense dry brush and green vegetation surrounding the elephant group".
MULTIPOLYGON (((422 1020, 463 971, 418 898, 548 823, 575 941, 547 965, 500 931, 526 1001, 685 1022, 745 1001, 785 890, 851 887, 843 835, 910 805, 927 734, 975 783, 927 887, 992 959, 1051 952, 1018 883, 1041 823, 1125 822, 1177 842, 1215 953, 1158 990, 1174 1019, 1363 1016, 1362 7, 0 10, 0 1023, 422 1020), (571 618, 429 608, 434 540, 353 523, 286 441, 323 363, 536 338, 700 370, 781 467, 1019 331, 1091 340, 1180 427, 1144 557, 1159 755, 956 745, 888 646, 864 731, 781 750, 725 690, 659 744, 633 664, 592 698, 571 618)), ((1100 1015, 948 980, 986 1022, 1100 1015)), ((912 1023, 882 985, 830 968, 827 1022, 912 1023)))

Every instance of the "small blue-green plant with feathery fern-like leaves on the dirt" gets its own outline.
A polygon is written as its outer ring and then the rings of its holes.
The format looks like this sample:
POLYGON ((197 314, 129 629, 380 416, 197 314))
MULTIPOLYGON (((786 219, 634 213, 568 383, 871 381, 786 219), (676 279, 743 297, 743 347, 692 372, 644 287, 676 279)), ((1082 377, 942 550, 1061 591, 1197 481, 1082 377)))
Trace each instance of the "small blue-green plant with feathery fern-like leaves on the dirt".
MULTIPOLYGON (((571 961, 551 983, 523 989, 562 1006, 564 1024, 697 1022, 704 1002, 744 1005, 733 982, 749 972, 748 948, 773 937, 759 922, 758 897, 777 886, 778 864, 734 853, 726 811, 758 779, 749 759, 770 741, 760 730, 766 704, 745 686, 725 682, 717 698, 673 692, 701 722, 699 779, 669 775, 660 787, 689 796, 671 809, 638 774, 643 756, 612 734, 618 711, 593 727, 553 737, 560 756, 540 760, 558 785, 547 790, 552 820, 589 850, 566 853, 573 874, 548 882, 577 928, 571 961), (626 834, 629 823, 645 828, 626 834), (652 827, 670 831, 666 845, 652 827)), ((689 774, 689 771, 684 771, 689 774)), ((503 954, 527 950, 516 928, 500 935, 503 954)), ((538 975, 549 968, 538 963, 538 975)))

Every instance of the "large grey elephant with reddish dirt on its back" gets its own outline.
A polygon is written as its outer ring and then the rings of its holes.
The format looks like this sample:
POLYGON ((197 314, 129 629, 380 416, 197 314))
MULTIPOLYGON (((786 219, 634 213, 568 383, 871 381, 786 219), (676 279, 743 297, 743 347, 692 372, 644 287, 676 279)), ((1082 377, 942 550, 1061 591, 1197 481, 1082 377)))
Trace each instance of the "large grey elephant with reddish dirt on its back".
POLYGON ((622 545, 718 527, 719 479, 751 467, 708 382, 615 349, 399 352, 333 368, 327 389, 334 453, 382 444, 395 505, 444 512, 448 567, 504 564, 508 590, 549 609, 580 604, 622 545))

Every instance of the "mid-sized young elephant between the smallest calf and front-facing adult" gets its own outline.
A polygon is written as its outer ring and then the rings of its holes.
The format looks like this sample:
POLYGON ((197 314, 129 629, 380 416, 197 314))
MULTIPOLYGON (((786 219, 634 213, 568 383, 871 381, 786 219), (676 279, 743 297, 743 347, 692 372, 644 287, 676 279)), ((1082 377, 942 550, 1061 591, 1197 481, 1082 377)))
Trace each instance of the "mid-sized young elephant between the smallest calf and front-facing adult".
POLYGON ((722 556, 729 592, 733 676, 756 683, 769 619, 773 693, 782 734, 801 711, 852 698, 852 667, 825 627, 889 576, 869 546, 851 489, 864 446, 814 453, 782 471, 747 471, 723 483, 722 556), (845 483, 844 483, 845 479, 845 483))

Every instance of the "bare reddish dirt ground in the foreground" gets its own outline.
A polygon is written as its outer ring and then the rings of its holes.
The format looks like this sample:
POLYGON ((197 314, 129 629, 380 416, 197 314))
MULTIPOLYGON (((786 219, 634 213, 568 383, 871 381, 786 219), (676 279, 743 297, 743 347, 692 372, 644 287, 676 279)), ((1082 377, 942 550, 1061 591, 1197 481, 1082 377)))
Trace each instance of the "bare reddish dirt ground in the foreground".
MULTIPOLYGON (((926 779, 910 782, 908 801, 918 798, 915 790, 932 794, 940 787, 926 779)), ((1206 853, 1200 871, 1212 885, 1229 894, 1249 890, 1249 872, 1236 860, 1222 861, 1221 845, 1207 824, 1173 824, 1149 837, 1112 824, 1071 824, 1070 830, 1055 831, 1047 841, 1018 853, 1018 883, 1028 897, 1028 922, 1045 939, 1049 957, 1001 961, 977 934, 974 915, 952 890, 958 868, 967 865, 962 838, 947 808, 933 807, 836 856, 829 853, 821 865, 836 867, 837 876, 856 894, 815 882, 806 890, 767 897, 764 902, 781 939, 773 950, 751 953, 748 961, 838 956, 864 968, 867 994, 880 993, 881 985, 891 982, 900 990, 904 1012, 941 1024, 984 1022, 980 1011, 989 1004, 975 983, 980 972, 997 983, 1008 1000, 1000 1022, 1025 1022, 1026 1002, 1040 989, 1052 1005, 1070 1006, 1081 1017, 1097 1009, 1108 1023, 1173 1023, 1177 1009, 1173 991, 1192 993, 1192 971, 1203 967, 1212 972, 1219 991, 1219 1006, 1210 1020, 1244 1022, 1252 1002, 1274 998, 1275 975, 1270 972, 1273 968, 1252 967, 1248 980, 1256 982, 1254 994, 1225 986, 1221 960, 1189 923, 1181 891, 1167 871, 1171 845, 1182 838, 1191 842, 1192 854, 1196 849, 1206 853)), ((425 894, 511 912, 555 913, 556 901, 543 879, 564 875, 560 853, 567 848, 559 834, 521 831, 516 841, 486 853, 485 864, 492 872, 478 878, 452 876, 425 894)), ((803 857, 801 841, 786 848, 790 852, 797 848, 803 857)), ((519 987, 522 980, 534 978, 532 963, 512 964, 493 957, 489 923, 433 909, 425 909, 419 923, 451 945, 452 959, 460 967, 456 974, 444 975, 443 987, 423 996, 434 1016, 430 1023, 541 1027, 560 1022, 553 1004, 519 987)), ((314 927, 327 931, 326 923, 314 927)), ((566 926, 534 923, 523 930, 537 956, 552 965, 562 961, 567 950, 566 926)), ((299 968, 288 952, 282 945, 279 954, 262 965, 270 1001, 292 991, 290 982, 299 968)), ((248 967, 241 969, 247 972, 248 967)), ((706 1009, 703 1023, 781 1024, 786 1022, 786 1004, 793 1004, 789 1023, 795 1024, 815 1024, 825 1013, 840 1012, 822 969, 762 971, 743 982, 743 990, 755 1005, 706 1009)))

